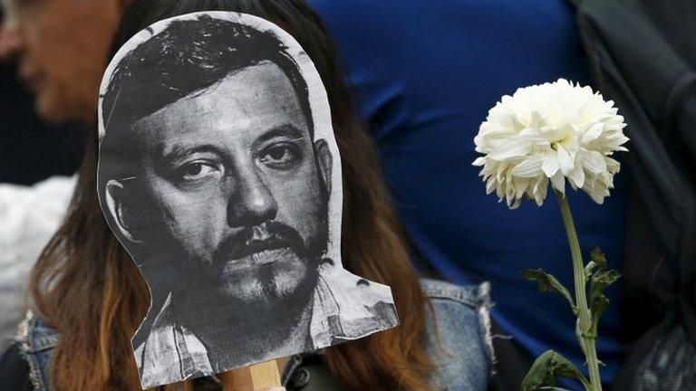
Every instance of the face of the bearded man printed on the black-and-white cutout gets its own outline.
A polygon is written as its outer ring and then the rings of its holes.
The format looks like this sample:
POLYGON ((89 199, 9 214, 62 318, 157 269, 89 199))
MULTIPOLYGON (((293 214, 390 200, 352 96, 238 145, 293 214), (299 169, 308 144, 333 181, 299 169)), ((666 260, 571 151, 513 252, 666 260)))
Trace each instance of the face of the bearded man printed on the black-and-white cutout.
POLYGON ((139 182, 155 201, 150 231, 186 258, 165 262, 205 276, 185 281, 257 306, 314 286, 330 174, 317 169, 304 113, 277 65, 228 75, 141 119, 135 132, 145 146, 139 182))

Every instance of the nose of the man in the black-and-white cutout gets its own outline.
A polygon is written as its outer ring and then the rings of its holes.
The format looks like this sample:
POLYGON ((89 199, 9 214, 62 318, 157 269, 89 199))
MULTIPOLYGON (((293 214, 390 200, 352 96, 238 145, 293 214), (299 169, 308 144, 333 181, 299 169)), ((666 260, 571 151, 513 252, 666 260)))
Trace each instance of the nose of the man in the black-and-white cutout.
POLYGON ((227 205, 227 224, 231 227, 251 226, 275 219, 278 205, 262 174, 254 167, 247 167, 238 174, 227 205))

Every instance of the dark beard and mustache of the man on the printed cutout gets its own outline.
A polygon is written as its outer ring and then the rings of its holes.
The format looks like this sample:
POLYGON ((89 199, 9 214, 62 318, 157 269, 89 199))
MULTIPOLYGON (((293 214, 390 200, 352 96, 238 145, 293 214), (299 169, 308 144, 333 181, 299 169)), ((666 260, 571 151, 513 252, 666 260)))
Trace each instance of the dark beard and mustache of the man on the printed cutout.
MULTIPOLYGON (((164 302, 155 297, 158 291, 171 292, 169 321, 201 338, 232 330, 246 335, 275 329, 280 336, 279 329, 289 331, 311 310, 327 240, 324 230, 305 244, 294 228, 275 221, 245 227, 218 245, 212 262, 189 259, 180 269, 152 271, 157 278, 148 281, 163 283, 150 286, 153 304, 164 302)), ((167 253, 177 248, 170 243, 167 253)))

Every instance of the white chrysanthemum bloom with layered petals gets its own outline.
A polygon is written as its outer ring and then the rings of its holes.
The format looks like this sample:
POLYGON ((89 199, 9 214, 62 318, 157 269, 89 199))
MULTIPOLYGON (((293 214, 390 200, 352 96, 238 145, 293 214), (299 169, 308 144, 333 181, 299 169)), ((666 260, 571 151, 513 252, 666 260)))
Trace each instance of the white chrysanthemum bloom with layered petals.
POLYGON ((589 87, 565 79, 519 89, 488 111, 474 138, 474 161, 488 194, 514 209, 524 196, 542 205, 549 181, 565 194, 565 179, 602 204, 614 188, 619 162, 611 156, 625 151, 623 117, 614 102, 589 87))

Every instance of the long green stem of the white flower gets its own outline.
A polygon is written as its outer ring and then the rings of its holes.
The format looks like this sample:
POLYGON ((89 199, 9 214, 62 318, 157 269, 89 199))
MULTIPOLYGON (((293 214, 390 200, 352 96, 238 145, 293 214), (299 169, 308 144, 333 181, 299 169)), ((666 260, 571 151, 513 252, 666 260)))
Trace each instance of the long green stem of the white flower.
POLYGON ((577 232, 575 232, 575 223, 573 223, 573 215, 570 214, 570 205, 565 195, 556 190, 556 198, 558 206, 561 208, 561 217, 565 225, 565 234, 568 236, 570 244, 570 253, 573 256, 573 274, 575 276, 575 305, 577 306, 577 317, 580 321, 580 329, 578 330, 578 340, 582 343, 585 351, 585 359, 587 368, 590 371, 590 384, 592 391, 602 391, 602 382, 599 377, 599 360, 597 359, 596 336, 589 335, 592 327, 592 319, 590 309, 587 307, 587 295, 585 291, 585 266, 583 264, 583 255, 580 251, 580 243, 577 241, 577 232))

